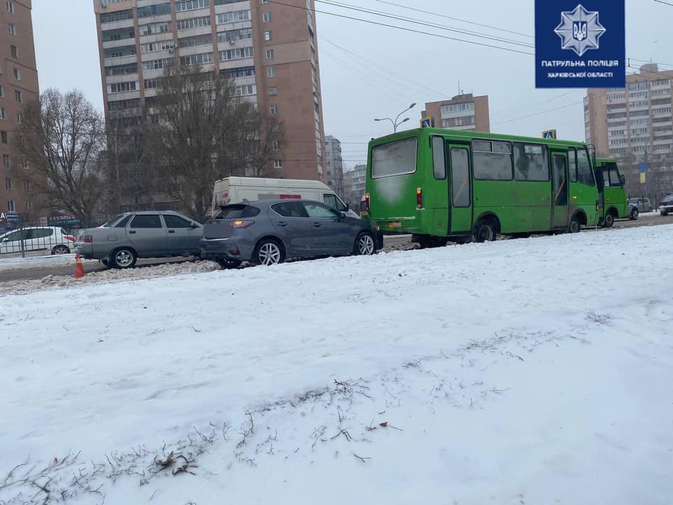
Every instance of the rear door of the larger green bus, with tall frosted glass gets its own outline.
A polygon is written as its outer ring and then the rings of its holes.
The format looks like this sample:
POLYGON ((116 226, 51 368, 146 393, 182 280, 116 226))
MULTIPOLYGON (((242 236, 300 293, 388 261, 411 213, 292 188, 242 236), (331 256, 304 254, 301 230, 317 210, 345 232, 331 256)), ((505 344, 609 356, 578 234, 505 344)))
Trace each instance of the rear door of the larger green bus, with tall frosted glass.
POLYGON ((470 144, 449 143, 449 211, 451 233, 472 233, 472 183, 470 181, 470 144))

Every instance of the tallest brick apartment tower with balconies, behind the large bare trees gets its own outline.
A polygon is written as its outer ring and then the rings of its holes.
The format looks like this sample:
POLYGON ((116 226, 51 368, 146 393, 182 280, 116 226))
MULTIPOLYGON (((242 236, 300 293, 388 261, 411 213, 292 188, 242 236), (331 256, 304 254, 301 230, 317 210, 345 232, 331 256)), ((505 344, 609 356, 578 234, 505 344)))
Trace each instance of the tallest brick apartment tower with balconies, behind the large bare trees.
POLYGON ((325 180, 312 9, 313 0, 94 0, 106 116, 138 114, 168 65, 198 64, 284 123, 273 168, 325 180))

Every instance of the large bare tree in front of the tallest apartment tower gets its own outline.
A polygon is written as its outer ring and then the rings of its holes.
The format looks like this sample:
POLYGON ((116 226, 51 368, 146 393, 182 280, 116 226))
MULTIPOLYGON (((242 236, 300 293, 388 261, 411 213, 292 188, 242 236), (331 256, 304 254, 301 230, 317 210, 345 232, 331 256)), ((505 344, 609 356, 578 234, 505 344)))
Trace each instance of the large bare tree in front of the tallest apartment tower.
POLYGON ((166 70, 152 113, 157 180, 196 220, 207 217, 216 180, 263 173, 283 140, 278 121, 263 118, 230 81, 197 65, 166 70))

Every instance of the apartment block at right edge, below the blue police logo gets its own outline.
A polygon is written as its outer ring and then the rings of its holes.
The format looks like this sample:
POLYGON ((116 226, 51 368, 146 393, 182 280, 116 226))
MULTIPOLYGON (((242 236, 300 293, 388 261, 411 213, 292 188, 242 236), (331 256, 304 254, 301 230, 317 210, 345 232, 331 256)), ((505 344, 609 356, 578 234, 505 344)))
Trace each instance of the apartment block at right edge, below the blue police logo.
POLYGON ((626 82, 626 88, 587 90, 587 144, 594 145, 597 156, 621 159, 631 196, 659 201, 673 192, 673 71, 650 63, 626 82))

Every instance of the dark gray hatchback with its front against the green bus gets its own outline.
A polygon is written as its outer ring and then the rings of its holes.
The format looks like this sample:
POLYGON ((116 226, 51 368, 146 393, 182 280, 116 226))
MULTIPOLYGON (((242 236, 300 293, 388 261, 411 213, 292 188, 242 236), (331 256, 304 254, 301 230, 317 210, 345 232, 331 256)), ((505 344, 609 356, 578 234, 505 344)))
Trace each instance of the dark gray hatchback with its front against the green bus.
POLYGON ((222 206, 203 227, 201 257, 223 267, 243 261, 372 255, 383 236, 368 220, 310 200, 268 200, 222 206))

